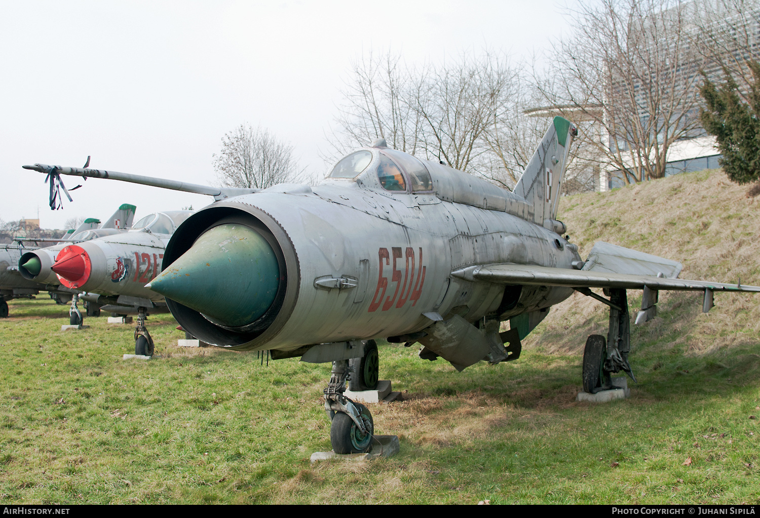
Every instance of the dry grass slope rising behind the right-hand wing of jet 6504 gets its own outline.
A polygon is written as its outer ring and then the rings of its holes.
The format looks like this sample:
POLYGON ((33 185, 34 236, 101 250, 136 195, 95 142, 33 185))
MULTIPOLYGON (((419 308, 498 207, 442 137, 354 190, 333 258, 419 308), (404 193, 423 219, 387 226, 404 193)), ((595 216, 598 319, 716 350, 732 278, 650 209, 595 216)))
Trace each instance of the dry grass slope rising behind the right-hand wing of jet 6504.
MULTIPOLYGON (((730 183, 722 170, 671 176, 664 180, 567 196, 559 218, 586 257, 597 241, 675 259, 681 278, 760 284, 760 205, 745 186, 730 183)), ((632 313, 641 291, 629 292, 632 313)), ((640 342, 660 347, 686 345, 688 354, 730 351, 756 344, 760 300, 752 294, 716 294, 716 307, 701 313, 701 294, 660 293, 660 315, 633 329, 640 342), (675 332, 677 336, 671 337, 675 332), (673 338, 664 340, 663 338, 673 338)), ((527 345, 546 352, 582 351, 587 335, 606 335, 607 311, 575 293, 553 307, 527 345)), ((633 341, 636 347, 636 339, 633 341)))

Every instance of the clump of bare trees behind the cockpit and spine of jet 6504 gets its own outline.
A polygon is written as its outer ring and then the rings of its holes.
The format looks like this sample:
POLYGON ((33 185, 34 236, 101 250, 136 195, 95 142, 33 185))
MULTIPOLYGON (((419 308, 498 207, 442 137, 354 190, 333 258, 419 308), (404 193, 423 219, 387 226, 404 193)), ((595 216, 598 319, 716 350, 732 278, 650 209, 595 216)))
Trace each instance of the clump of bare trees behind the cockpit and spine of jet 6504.
POLYGON ((351 67, 329 138, 334 153, 325 158, 379 137, 391 148, 514 186, 527 164, 511 155, 517 79, 505 57, 488 52, 417 67, 392 52, 369 53, 351 67))

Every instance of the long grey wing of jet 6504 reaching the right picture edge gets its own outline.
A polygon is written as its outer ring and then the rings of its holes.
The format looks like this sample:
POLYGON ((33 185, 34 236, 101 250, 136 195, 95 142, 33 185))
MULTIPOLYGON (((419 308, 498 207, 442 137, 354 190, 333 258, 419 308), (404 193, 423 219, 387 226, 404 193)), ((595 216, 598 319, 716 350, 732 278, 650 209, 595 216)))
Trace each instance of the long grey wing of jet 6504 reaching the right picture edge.
POLYGON ((486 281, 494 284, 535 284, 565 286, 567 288, 625 288, 630 290, 681 290, 681 291, 755 291, 760 286, 724 284, 711 281, 631 275, 612 272, 594 272, 534 265, 480 265, 451 272, 451 275, 469 281, 486 281))

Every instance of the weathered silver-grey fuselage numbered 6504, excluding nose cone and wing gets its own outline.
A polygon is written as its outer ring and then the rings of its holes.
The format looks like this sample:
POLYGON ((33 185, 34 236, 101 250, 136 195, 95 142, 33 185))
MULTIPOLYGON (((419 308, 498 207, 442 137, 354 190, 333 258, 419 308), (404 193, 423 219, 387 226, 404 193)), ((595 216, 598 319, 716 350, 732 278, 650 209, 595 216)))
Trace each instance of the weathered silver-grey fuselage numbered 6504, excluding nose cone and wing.
POLYGON ((454 270, 496 262, 572 269, 580 256, 555 230, 521 217, 530 210, 524 200, 451 167, 425 161, 429 189, 386 190, 376 173, 384 150, 365 149, 372 161, 356 178, 274 186, 188 218, 172 240, 184 246, 167 249, 169 263, 215 222, 252 218, 280 247, 287 288, 263 332, 214 329, 169 301, 183 328, 226 348, 290 351, 405 335, 450 313, 468 322, 545 313, 572 294, 572 288, 524 286, 506 296, 515 300, 505 300, 503 284, 452 277, 454 270))

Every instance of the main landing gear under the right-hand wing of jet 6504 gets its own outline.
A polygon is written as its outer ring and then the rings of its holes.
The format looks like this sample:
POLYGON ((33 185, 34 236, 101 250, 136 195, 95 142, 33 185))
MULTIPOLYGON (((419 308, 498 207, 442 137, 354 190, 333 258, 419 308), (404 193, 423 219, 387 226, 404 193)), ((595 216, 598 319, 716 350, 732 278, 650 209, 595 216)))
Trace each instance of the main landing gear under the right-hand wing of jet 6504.
MULTIPOLYGON (((578 289, 581 293, 586 290, 578 289)), ((616 388, 610 373, 621 370, 636 381, 628 355, 631 352, 631 319, 628 313, 628 297, 622 288, 605 288, 606 300, 594 294, 594 298, 610 307, 610 329, 606 340, 602 335, 591 335, 586 340, 583 353, 583 389, 594 394, 600 390, 616 388)))

